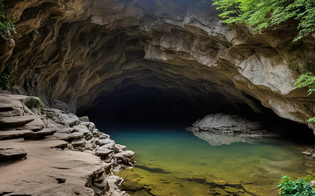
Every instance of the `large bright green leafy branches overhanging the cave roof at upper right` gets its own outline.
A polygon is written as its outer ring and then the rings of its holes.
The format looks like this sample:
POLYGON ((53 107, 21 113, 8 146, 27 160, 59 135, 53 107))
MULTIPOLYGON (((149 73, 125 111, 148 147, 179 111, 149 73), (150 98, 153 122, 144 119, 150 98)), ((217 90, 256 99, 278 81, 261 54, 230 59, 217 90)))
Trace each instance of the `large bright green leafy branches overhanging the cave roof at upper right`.
POLYGON ((290 18, 299 21, 299 35, 294 41, 315 32, 314 0, 215 0, 226 24, 245 23, 255 26, 256 33, 290 18))

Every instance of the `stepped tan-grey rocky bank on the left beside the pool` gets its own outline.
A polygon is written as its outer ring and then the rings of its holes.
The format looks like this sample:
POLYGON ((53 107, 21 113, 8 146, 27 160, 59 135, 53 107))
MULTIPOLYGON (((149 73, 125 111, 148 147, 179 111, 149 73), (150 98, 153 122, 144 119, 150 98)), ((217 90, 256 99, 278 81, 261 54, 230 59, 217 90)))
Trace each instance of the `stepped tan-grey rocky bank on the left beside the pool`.
POLYGON ((0 195, 127 196, 123 178, 114 174, 133 167, 135 153, 87 116, 40 103, 0 94, 0 195))

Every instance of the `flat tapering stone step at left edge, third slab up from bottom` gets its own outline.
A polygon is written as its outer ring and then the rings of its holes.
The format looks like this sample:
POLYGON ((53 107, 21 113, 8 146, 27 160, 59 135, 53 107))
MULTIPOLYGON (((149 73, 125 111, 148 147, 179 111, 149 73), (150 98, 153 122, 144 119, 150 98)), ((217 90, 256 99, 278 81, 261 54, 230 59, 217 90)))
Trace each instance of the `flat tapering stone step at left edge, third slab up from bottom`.
POLYGON ((10 126, 25 126, 26 123, 33 121, 35 118, 35 116, 0 117, 0 130, 10 126))

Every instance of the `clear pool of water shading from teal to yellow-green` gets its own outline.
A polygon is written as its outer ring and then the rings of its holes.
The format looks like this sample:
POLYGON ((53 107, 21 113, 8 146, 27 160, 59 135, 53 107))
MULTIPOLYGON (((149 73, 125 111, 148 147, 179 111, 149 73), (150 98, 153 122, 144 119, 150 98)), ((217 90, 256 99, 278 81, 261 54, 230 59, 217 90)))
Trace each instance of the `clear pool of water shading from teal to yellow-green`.
POLYGON ((135 196, 278 195, 282 176, 304 177, 312 164, 298 145, 275 140, 197 137, 182 129, 106 133, 135 152, 135 167, 118 174, 135 196))

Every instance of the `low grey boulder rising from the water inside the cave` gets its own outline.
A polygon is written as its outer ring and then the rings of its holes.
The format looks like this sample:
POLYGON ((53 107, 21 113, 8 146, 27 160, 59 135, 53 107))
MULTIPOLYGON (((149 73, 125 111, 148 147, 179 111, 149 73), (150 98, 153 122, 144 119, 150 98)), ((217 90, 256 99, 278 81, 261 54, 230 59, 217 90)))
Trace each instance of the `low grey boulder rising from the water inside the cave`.
POLYGON ((281 135, 280 130, 277 133, 273 132, 273 127, 266 127, 264 124, 261 121, 249 121, 242 115, 217 113, 198 119, 186 130, 246 137, 279 137, 281 135))

